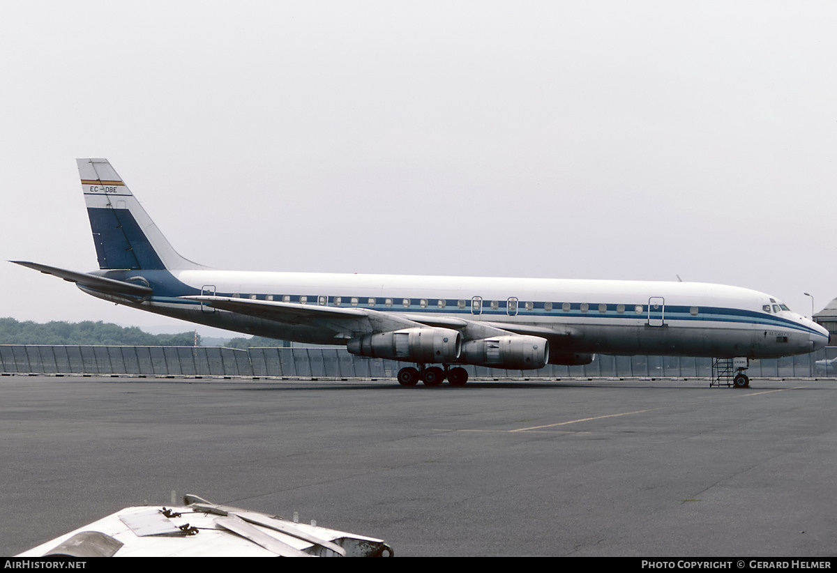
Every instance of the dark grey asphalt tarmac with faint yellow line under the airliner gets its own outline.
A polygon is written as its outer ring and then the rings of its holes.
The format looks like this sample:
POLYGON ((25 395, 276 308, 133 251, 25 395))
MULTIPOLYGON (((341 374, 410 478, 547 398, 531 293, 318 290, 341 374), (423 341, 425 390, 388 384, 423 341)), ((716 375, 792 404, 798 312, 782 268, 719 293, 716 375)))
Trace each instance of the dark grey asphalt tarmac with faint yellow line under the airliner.
POLYGON ((172 492, 396 556, 837 555, 837 381, 0 377, 0 555, 172 492))

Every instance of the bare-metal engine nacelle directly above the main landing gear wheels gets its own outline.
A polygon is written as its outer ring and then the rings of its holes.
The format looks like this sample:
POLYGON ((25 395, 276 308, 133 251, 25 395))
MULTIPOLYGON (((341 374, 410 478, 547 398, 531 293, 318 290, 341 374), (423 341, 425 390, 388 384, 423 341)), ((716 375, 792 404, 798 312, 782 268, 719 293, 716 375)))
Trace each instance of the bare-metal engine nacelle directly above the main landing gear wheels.
POLYGON ((346 348, 370 358, 448 364, 460 357, 462 335, 449 328, 405 328, 352 338, 346 348))

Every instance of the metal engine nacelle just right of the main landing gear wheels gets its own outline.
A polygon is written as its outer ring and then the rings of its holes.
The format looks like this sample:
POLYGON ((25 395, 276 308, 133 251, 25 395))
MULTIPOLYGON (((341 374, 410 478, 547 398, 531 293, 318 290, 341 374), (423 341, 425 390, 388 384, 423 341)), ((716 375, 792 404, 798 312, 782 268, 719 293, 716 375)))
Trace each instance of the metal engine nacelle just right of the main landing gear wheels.
POLYGON ((549 342, 540 336, 491 336, 462 345, 460 362, 510 370, 535 370, 547 366, 549 342))

